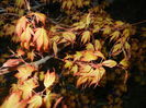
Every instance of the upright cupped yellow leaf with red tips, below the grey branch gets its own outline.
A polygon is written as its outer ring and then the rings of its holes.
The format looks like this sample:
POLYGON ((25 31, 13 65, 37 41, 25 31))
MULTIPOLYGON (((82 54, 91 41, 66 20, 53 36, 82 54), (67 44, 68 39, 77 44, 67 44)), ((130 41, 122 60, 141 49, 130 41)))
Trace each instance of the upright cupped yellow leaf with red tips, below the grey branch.
POLYGON ((55 72, 49 73, 49 71, 47 71, 44 80, 45 87, 49 87, 50 85, 53 85, 53 83, 55 82, 55 72))

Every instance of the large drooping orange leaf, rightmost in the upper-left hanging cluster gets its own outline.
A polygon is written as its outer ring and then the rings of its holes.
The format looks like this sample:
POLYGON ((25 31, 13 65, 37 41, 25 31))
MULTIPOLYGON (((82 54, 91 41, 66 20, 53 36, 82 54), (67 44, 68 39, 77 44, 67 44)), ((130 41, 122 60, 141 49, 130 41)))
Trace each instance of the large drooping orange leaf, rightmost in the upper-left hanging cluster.
POLYGON ((36 43, 37 50, 46 51, 48 49, 49 37, 44 28, 36 29, 33 40, 36 43))

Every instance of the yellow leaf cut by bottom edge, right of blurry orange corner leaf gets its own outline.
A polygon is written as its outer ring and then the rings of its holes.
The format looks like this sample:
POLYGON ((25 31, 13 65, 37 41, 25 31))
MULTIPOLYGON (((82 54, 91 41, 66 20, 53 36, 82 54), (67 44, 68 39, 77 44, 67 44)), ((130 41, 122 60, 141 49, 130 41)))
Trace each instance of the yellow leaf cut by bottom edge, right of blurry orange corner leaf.
POLYGON ((42 105, 42 97, 40 95, 34 95, 31 100, 29 101, 27 108, 40 108, 42 105))

